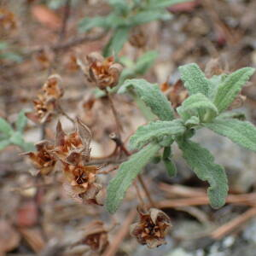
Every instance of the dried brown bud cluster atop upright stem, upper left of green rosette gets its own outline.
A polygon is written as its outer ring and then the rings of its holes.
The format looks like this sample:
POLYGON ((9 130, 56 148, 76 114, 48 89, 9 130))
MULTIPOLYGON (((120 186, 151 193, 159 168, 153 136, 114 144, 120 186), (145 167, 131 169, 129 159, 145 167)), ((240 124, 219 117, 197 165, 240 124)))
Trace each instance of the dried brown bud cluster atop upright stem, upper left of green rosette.
POLYGON ((113 87, 119 82, 119 75, 123 67, 114 62, 113 56, 106 59, 99 53, 93 52, 86 56, 87 67, 85 75, 90 83, 104 90, 113 87))

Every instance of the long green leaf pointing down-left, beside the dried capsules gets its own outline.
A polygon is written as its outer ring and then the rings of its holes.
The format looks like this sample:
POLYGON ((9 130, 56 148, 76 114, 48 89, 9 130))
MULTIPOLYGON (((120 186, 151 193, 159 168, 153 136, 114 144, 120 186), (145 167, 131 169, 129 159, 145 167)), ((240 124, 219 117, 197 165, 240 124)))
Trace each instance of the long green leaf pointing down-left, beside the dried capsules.
POLYGON ((106 201, 108 212, 116 212, 125 197, 126 190, 159 149, 160 145, 151 143, 141 151, 131 155, 129 160, 119 166, 116 176, 108 184, 106 201))

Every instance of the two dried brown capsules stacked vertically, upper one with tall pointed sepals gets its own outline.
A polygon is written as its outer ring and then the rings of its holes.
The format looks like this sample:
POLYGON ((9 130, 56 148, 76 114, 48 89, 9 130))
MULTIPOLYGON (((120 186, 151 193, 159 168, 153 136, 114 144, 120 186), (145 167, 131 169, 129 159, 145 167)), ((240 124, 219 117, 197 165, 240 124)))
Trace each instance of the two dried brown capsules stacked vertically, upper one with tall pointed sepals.
POLYGON ((54 154, 61 160, 67 180, 67 193, 81 202, 101 204, 102 186, 96 183, 96 171, 99 167, 85 165, 90 160, 90 140, 90 130, 80 119, 77 119, 76 131, 70 134, 62 130, 59 122, 54 154))

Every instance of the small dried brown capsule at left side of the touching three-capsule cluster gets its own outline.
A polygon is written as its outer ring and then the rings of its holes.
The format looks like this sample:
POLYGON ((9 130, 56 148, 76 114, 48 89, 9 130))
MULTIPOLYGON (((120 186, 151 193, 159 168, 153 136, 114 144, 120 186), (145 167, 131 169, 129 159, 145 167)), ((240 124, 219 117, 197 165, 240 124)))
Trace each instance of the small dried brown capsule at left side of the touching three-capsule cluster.
POLYGON ((51 154, 53 146, 49 144, 48 141, 41 141, 36 144, 37 152, 27 152, 23 155, 28 155, 30 160, 32 160, 33 166, 38 169, 42 175, 47 175, 55 167, 55 157, 51 154))

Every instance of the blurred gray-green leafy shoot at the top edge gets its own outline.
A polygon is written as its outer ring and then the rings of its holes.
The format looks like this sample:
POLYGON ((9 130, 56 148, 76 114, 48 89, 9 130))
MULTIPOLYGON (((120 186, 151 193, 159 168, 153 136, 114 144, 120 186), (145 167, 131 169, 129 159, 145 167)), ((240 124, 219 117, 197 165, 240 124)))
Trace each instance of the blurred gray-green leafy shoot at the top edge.
MULTIPOLYGON (((186 0, 189 1, 189 0, 186 0)), ((185 0, 108 0, 112 12, 108 16, 86 17, 79 23, 80 32, 88 32, 94 27, 112 30, 112 38, 103 50, 104 55, 118 54, 123 48, 131 29, 153 20, 171 18, 166 7, 186 2, 185 0)))

